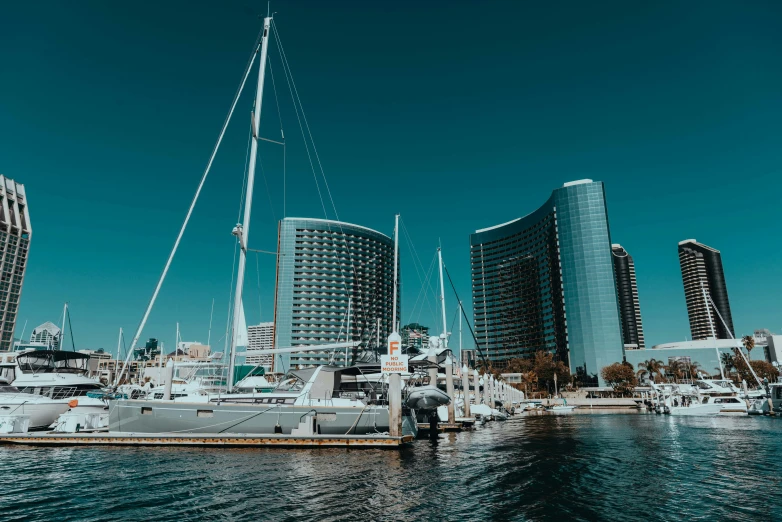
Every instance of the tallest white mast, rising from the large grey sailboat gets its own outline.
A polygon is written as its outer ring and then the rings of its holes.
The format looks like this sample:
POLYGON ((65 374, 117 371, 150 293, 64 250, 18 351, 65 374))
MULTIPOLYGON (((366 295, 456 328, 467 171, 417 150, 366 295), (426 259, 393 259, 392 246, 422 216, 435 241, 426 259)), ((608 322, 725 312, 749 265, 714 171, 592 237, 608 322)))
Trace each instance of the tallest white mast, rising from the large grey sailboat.
POLYGON ((253 206, 253 186, 255 184, 255 163, 258 157, 258 140, 261 125, 261 105, 263 103, 263 81, 266 75, 266 55, 269 49, 269 29, 271 16, 263 19, 263 36, 261 37, 261 60, 258 64, 258 88, 255 93, 255 106, 252 114, 252 143, 250 163, 247 167, 247 192, 244 199, 244 219, 234 228, 234 235, 239 238, 239 269, 236 275, 236 294, 234 295, 233 327, 231 328, 231 352, 228 357, 228 391, 234 384, 234 365, 236 364, 236 341, 238 337, 240 310, 242 307, 242 290, 244 288, 244 270, 247 265, 247 243, 250 239, 250 214, 253 206))

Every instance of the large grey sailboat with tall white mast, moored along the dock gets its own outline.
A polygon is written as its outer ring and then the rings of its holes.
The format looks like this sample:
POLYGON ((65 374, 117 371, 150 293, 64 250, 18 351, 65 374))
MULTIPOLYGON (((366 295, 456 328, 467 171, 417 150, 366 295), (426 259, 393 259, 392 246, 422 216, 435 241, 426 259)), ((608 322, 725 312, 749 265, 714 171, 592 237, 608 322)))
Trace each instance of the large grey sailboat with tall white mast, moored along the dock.
MULTIPOLYGON (((258 142, 263 139, 259 134, 259 125, 271 29, 272 17, 267 16, 263 21, 262 37, 252 59, 254 61, 255 57, 259 56, 260 63, 251 120, 252 139, 245 191, 244 218, 242 223, 233 229, 233 234, 239 242, 240 254, 228 357, 227 393, 210 394, 197 401, 190 397, 169 401, 120 398, 112 405, 109 431, 291 435, 353 435, 389 431, 387 398, 378 394, 378 391, 382 392, 382 389, 378 390, 374 383, 365 378, 365 370, 360 366, 320 366, 305 370, 291 370, 271 392, 257 393, 253 390, 250 393, 236 393, 239 391, 234 385, 237 347, 241 346, 243 342, 246 345, 246 341, 242 340, 242 335, 246 335, 246 326, 242 324, 244 319, 242 291, 250 234, 258 142)), ((214 153, 212 157, 214 157, 214 153)), ((191 211, 192 208, 191 206, 191 211)), ((170 261, 171 257, 169 264, 170 261)), ((163 275, 165 275, 165 270, 163 275)), ((162 280, 158 282, 156 293, 161 283, 162 280)), ((149 308, 144 320, 148 314, 149 308)), ((143 321, 141 327, 143 327, 143 321)), ((139 335, 140 333, 137 333, 136 337, 139 335)), ((353 342, 321 345, 313 348, 324 350, 351 346, 354 346, 353 342)), ((266 351, 266 353, 290 353, 306 349, 305 347, 275 348, 266 351)), ((377 370, 379 370, 379 366, 377 370)), ((403 415, 403 434, 414 435, 414 430, 415 423, 403 415)))

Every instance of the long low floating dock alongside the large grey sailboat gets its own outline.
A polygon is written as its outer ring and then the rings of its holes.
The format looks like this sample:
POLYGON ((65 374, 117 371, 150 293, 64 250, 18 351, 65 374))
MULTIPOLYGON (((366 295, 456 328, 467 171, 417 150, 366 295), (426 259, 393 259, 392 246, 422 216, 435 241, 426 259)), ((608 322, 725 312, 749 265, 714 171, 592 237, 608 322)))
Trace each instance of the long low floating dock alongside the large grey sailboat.
POLYGON ((411 435, 291 435, 181 434, 181 433, 9 433, 0 444, 29 446, 203 446, 219 448, 399 448, 413 441, 411 435))

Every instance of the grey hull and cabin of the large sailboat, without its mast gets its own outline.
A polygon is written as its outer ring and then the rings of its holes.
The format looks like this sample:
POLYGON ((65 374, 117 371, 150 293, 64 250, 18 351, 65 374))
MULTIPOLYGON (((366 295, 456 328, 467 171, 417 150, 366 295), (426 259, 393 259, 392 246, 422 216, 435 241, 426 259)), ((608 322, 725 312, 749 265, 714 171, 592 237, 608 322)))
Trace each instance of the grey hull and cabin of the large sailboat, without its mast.
MULTIPOLYGON (((384 390, 362 380, 356 366, 291 370, 270 393, 211 395, 206 401, 117 399, 109 431, 365 435, 389 431, 384 390)), ((402 410, 402 433, 417 433, 402 410)))

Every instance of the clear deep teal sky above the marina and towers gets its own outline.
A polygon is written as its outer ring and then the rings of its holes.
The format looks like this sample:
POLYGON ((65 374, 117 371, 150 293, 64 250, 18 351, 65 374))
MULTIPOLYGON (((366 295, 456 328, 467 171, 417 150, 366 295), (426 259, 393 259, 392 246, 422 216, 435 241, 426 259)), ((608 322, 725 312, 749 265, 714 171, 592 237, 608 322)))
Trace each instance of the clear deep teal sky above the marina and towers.
MULTIPOLYGON (((17 336, 25 321, 25 337, 59 322, 66 300, 77 348, 113 350, 120 326, 132 336, 265 7, 3 6, 0 173, 26 186, 33 226, 17 336)), ((676 250, 687 238, 722 251, 737 333, 782 331, 779 2, 272 8, 339 217, 390 235, 400 212, 425 270, 441 240, 470 315, 469 234, 592 178, 606 184, 612 240, 635 258, 647 344, 689 335, 676 250)), ((287 190, 281 151, 265 144, 251 246, 274 250, 283 199, 288 216, 323 211, 275 45, 270 57, 287 190)), ((185 339, 206 342, 214 298, 222 346, 251 91, 144 338, 171 343, 179 321, 185 339)), ((274 139, 271 89, 264 103, 262 134, 274 139)), ((402 321, 438 324, 416 305, 404 239, 401 255, 402 321)), ((274 258, 249 267, 248 322, 272 320, 274 258)))

